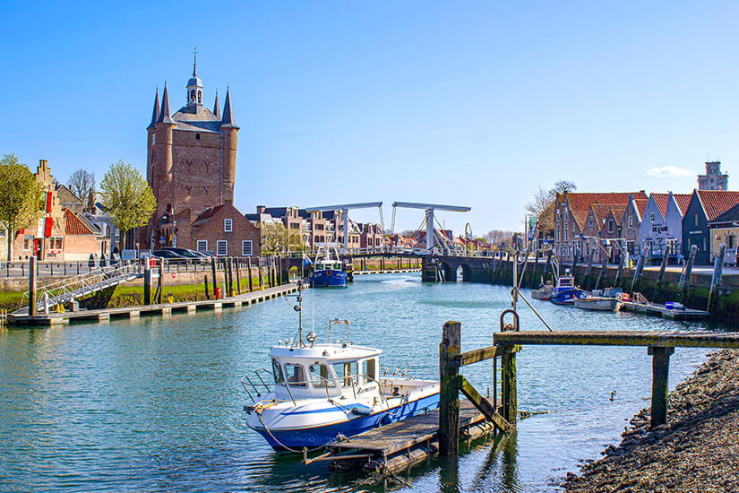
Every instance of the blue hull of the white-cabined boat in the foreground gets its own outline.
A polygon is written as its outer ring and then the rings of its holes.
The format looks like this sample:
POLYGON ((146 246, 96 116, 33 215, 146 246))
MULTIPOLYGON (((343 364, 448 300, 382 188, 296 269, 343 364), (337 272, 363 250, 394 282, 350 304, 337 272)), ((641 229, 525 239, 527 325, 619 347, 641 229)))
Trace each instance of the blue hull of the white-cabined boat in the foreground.
POLYGON ((339 433, 344 437, 353 437, 372 428, 389 425, 395 421, 401 421, 438 407, 439 394, 434 394, 391 408, 387 411, 376 412, 369 416, 357 416, 354 419, 348 419, 347 421, 322 427, 271 430, 271 434, 262 429, 257 429, 256 431, 276 451, 286 452, 285 446, 296 450, 302 449, 303 447, 314 448, 323 446, 333 441, 339 433))

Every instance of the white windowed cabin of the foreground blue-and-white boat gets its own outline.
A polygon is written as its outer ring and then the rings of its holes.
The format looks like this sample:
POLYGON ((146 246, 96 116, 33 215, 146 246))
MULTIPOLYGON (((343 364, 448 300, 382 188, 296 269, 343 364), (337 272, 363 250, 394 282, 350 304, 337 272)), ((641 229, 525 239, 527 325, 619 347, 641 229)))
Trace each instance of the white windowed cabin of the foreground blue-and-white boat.
POLYGON ((270 358, 275 397, 295 401, 377 393, 381 353, 352 344, 274 346, 270 358))

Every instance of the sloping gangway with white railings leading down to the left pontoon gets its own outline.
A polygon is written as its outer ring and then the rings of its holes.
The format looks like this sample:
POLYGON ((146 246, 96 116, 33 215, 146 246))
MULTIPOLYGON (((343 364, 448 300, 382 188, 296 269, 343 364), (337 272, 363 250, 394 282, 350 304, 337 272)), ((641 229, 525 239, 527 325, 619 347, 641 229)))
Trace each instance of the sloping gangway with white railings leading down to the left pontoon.
MULTIPOLYGON (((143 272, 139 264, 118 263, 68 277, 62 281, 55 281, 36 290, 36 309, 42 311, 46 307, 64 304, 142 276, 143 272)), ((29 294, 30 291, 23 293, 20 307, 13 313, 20 314, 28 310, 29 294)))

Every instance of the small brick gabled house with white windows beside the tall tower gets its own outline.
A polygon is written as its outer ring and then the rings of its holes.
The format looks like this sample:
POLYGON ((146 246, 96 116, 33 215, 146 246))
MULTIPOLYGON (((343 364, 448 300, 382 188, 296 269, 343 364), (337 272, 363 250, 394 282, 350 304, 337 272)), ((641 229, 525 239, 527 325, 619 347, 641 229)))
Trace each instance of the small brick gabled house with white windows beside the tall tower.
POLYGON ((192 248, 219 256, 259 256, 260 230, 228 201, 201 212, 192 222, 192 248))

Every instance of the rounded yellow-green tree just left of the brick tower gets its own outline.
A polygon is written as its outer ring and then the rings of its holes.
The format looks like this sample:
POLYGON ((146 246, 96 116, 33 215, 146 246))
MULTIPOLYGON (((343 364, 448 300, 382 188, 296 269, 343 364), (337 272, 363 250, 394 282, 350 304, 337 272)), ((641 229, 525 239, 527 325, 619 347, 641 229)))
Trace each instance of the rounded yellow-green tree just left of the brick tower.
POLYGON ((121 230, 124 247, 125 234, 146 225, 157 209, 157 199, 149 184, 138 169, 123 160, 110 165, 100 183, 100 195, 107 213, 121 230))

